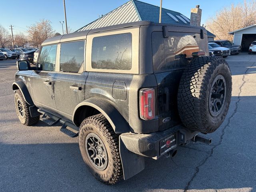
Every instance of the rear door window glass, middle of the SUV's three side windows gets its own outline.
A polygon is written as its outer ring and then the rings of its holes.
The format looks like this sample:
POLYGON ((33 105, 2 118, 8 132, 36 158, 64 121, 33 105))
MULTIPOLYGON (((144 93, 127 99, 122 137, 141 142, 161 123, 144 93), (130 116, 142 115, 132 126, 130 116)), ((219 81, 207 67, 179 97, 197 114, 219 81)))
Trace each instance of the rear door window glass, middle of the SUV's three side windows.
POLYGON ((84 71, 84 41, 62 43, 60 46, 60 71, 84 71))

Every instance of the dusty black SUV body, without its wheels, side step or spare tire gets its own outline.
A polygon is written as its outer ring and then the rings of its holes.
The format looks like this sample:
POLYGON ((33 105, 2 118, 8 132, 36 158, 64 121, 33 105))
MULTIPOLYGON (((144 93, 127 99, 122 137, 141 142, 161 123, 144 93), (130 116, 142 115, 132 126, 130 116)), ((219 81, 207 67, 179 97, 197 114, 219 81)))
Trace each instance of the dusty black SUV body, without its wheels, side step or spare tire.
POLYGON ((198 134, 181 124, 177 92, 192 52, 199 51, 208 54, 206 30, 200 27, 143 21, 75 32, 46 40, 37 66, 16 73, 16 82, 27 90, 17 83, 13 89, 26 92, 31 106, 74 126, 104 114, 120 134, 122 167, 128 179, 144 169, 144 157, 158 159, 198 134), (141 118, 140 90, 144 88, 155 94, 151 120, 141 118), (168 146, 166 140, 171 142, 168 146))

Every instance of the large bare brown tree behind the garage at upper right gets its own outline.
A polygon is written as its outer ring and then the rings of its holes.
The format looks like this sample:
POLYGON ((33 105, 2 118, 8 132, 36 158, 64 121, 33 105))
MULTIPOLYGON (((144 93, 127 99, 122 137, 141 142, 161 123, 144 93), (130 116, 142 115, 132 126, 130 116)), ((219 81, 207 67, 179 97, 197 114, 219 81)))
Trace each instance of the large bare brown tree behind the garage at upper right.
POLYGON ((217 39, 232 40, 233 36, 229 32, 253 25, 255 21, 256 0, 244 0, 243 4, 231 4, 218 11, 208 19, 206 29, 215 34, 217 39))

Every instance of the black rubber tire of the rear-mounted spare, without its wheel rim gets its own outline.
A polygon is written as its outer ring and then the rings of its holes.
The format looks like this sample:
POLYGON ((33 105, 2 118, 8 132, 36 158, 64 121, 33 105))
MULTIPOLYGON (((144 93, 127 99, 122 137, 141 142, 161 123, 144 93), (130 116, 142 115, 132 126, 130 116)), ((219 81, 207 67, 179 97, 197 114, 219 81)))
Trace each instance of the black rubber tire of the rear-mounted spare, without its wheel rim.
MULTIPOLYGON (((178 89, 178 112, 182 123, 191 131, 212 133, 220 126, 227 114, 228 107, 224 111, 222 122, 218 122, 216 126, 209 125, 206 117, 208 115, 206 109, 206 106, 208 106, 206 104, 206 101, 208 101, 207 86, 209 86, 211 74, 218 65, 223 63, 227 67, 227 71, 230 72, 225 59, 220 56, 194 58, 182 74, 178 89)), ((232 87, 226 89, 230 91, 231 96, 232 87)), ((225 102, 228 102, 229 106, 230 98, 225 102)))

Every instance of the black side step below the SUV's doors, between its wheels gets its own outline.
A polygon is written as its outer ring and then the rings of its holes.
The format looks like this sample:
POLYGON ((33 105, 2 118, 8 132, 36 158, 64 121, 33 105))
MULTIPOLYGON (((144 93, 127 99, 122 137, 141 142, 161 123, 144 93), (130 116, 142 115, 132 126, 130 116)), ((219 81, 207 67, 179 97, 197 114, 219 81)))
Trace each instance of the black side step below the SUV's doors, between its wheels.
POLYGON ((70 137, 78 136, 79 127, 75 126, 71 122, 68 122, 62 118, 59 118, 53 114, 50 114, 42 109, 38 109, 38 112, 43 114, 42 118, 40 118, 41 121, 45 122, 48 125, 54 125, 54 124, 60 122, 62 124, 62 127, 60 128, 61 132, 67 134, 70 137), (71 128, 72 130, 68 129, 67 127, 71 128))

